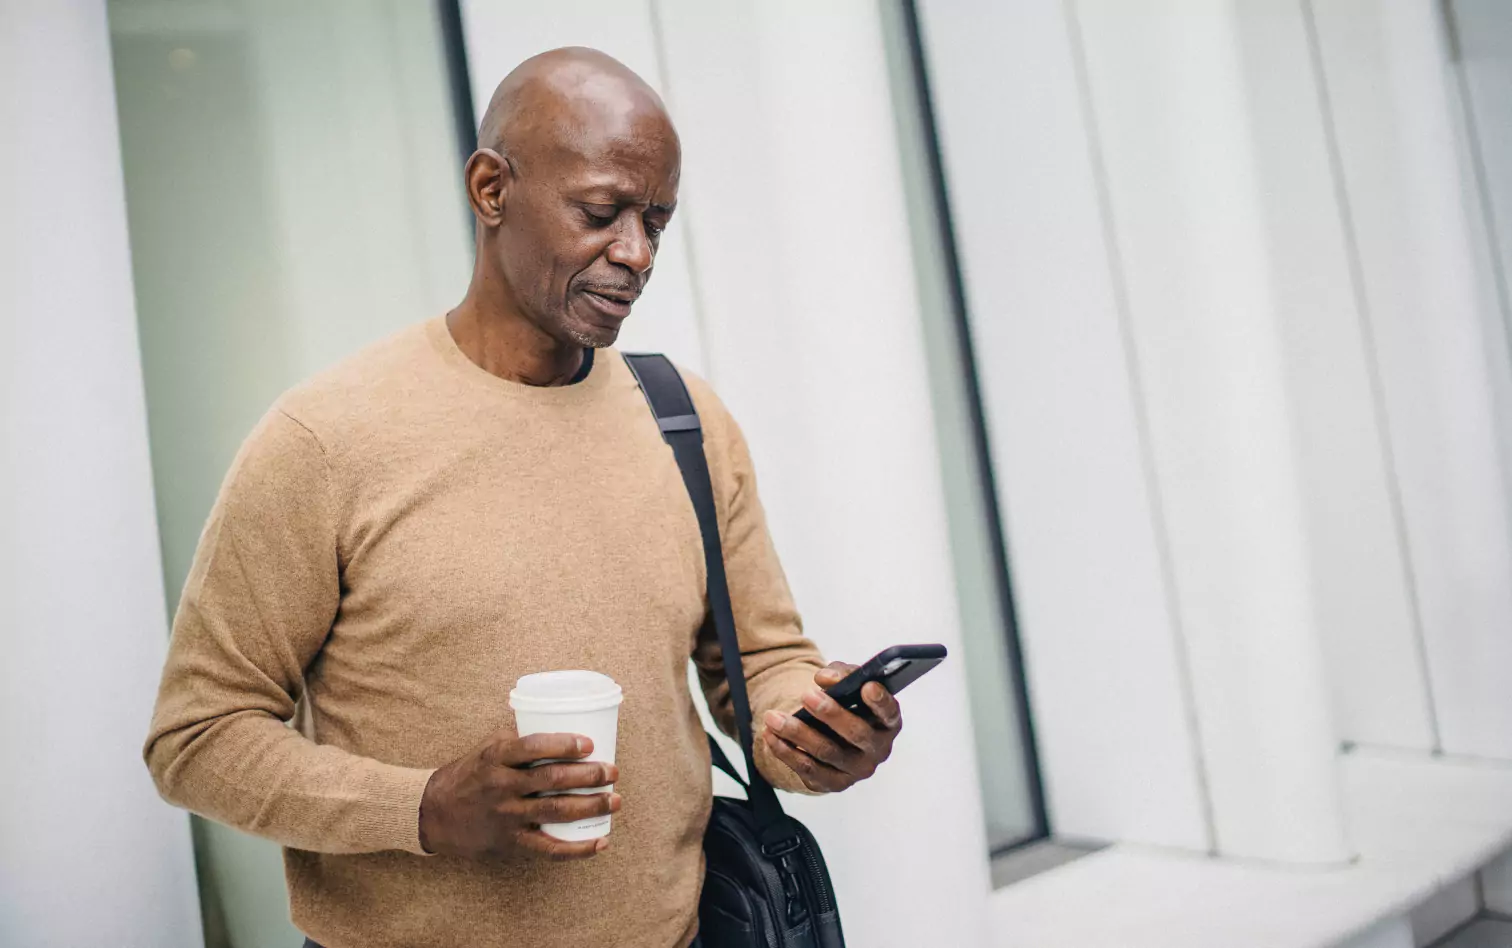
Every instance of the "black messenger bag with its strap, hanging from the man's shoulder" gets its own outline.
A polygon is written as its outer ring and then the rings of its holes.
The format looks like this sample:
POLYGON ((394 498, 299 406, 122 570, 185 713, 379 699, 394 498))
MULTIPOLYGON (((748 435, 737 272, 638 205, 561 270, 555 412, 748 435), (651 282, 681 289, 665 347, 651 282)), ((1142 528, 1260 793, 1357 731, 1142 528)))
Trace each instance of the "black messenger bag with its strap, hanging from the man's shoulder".
POLYGON ((703 948, 845 948, 835 889, 820 844, 809 830, 782 812, 777 792, 756 770, 751 753, 751 708, 745 694, 741 647, 724 576, 714 485, 703 455, 703 428, 688 389, 665 355, 624 355, 656 416, 662 438, 671 446, 688 485, 703 534, 709 612, 720 638, 724 674, 735 705, 735 724, 745 753, 745 773, 730 764, 709 738, 714 765, 745 788, 745 800, 715 797, 703 835, 703 897, 699 900, 699 937, 703 948))

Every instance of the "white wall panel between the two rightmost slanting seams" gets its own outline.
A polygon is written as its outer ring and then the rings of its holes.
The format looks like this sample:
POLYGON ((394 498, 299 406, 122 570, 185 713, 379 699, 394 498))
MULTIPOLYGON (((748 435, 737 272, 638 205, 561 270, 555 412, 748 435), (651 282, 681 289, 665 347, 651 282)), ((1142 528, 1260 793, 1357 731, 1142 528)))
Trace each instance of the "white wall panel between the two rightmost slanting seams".
POLYGON ((1509 757, 1512 364, 1442 6, 1314 9, 1442 748, 1509 757))

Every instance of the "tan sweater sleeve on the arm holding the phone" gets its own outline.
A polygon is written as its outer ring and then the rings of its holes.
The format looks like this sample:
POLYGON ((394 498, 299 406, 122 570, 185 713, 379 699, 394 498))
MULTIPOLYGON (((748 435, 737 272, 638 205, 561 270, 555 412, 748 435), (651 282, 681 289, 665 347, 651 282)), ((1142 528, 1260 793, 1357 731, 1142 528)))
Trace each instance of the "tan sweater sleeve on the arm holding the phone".
MULTIPOLYGON (((705 423, 705 452, 714 476, 720 508, 720 540, 724 572, 730 582, 735 630, 741 644, 741 667, 751 700, 756 767, 773 786, 807 794, 803 780, 786 764, 767 751, 761 739, 768 711, 792 714, 803 696, 813 688, 813 676, 824 667, 824 656, 803 634, 803 620, 777 561, 767 516, 756 493, 756 472, 745 437, 724 405, 699 380, 689 380, 705 423)), ((718 638, 706 627, 694 652, 699 682, 709 712, 720 730, 735 736, 735 705, 718 638)))

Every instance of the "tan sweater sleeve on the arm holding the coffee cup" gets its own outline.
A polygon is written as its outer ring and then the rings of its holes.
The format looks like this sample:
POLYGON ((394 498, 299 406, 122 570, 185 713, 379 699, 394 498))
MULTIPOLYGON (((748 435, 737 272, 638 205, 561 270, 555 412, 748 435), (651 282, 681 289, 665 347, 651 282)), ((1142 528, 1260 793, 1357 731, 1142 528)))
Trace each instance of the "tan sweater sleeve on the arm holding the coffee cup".
POLYGON ((200 538, 147 765, 169 803, 286 847, 423 853, 432 771, 318 745, 289 726, 340 605, 331 490, 316 437, 271 411, 200 538))

